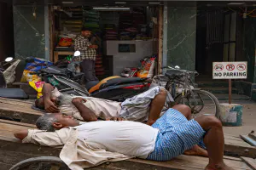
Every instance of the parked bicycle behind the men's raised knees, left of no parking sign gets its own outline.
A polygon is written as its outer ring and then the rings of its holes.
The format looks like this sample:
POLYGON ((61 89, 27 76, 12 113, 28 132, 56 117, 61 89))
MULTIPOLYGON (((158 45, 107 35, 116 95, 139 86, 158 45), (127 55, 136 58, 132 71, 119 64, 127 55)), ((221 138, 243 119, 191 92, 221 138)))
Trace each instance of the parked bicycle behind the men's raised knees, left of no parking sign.
POLYGON ((167 71, 173 71, 166 73, 165 76, 167 77, 166 89, 172 94, 175 104, 189 105, 193 116, 198 116, 201 112, 219 118, 218 99, 208 91, 195 88, 191 77, 198 76, 197 71, 180 70, 179 66, 175 66, 175 68, 168 66, 167 71), (209 104, 210 100, 206 97, 212 100, 213 104, 209 104), (203 111, 206 108, 207 110, 203 111))

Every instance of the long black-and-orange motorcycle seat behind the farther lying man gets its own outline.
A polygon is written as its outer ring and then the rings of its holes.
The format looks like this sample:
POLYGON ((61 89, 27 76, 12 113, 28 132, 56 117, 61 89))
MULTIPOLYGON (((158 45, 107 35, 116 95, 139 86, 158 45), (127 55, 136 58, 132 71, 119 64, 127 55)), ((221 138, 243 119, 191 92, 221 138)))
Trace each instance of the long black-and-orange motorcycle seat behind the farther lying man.
POLYGON ((96 90, 107 88, 113 85, 119 85, 124 83, 131 83, 131 82, 144 82, 145 78, 140 77, 108 77, 103 79, 101 82, 97 83, 96 86, 90 88, 89 93, 95 92, 96 90))

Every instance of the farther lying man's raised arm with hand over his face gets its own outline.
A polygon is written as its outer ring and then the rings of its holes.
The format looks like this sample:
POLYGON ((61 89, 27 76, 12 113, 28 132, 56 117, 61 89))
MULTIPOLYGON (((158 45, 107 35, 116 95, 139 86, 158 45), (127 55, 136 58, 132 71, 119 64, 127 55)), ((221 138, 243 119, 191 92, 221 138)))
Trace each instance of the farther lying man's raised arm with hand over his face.
POLYGON ((49 111, 50 113, 57 113, 59 109, 55 106, 55 104, 50 100, 51 91, 55 88, 49 83, 44 83, 43 86, 43 101, 44 101, 44 110, 49 111))

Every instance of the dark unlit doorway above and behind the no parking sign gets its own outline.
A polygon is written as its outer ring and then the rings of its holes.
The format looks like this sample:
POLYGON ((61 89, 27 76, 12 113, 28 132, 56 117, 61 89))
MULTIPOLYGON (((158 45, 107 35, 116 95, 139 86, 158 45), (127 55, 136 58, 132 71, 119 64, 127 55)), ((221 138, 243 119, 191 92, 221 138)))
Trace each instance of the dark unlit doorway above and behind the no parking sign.
POLYGON ((226 4, 198 7, 195 70, 200 76, 195 80, 210 82, 212 62, 242 57, 242 17, 226 4))

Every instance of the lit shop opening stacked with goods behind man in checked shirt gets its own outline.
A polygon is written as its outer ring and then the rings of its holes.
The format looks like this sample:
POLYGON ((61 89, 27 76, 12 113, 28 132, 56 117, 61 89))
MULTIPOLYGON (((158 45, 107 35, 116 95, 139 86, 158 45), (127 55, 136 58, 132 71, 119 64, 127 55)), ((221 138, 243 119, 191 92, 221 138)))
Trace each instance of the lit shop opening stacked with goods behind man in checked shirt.
POLYGON ((147 2, 52 6, 51 60, 72 56, 74 47, 69 41, 74 41, 86 27, 92 31, 90 42, 98 47, 96 77, 120 76, 125 68, 142 65, 142 59, 158 54, 158 6, 147 2))

